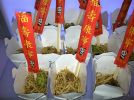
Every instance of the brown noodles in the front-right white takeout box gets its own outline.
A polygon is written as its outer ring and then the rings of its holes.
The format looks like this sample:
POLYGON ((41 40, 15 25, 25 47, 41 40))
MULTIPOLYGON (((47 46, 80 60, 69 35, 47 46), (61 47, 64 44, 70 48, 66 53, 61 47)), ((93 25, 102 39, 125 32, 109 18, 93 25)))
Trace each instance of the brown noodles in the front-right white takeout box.
POLYGON ((114 74, 102 74, 100 72, 97 72, 96 73, 96 86, 102 85, 102 84, 108 84, 108 85, 119 87, 117 80, 114 79, 114 74))

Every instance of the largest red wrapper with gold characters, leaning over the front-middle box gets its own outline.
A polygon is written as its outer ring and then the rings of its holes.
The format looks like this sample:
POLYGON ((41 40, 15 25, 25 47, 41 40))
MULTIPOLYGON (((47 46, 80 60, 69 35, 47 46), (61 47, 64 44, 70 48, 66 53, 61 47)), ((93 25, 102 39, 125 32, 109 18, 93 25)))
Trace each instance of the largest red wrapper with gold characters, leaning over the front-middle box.
POLYGON ((98 5, 98 2, 88 2, 76 53, 76 59, 79 62, 85 62, 100 11, 101 7, 98 5))

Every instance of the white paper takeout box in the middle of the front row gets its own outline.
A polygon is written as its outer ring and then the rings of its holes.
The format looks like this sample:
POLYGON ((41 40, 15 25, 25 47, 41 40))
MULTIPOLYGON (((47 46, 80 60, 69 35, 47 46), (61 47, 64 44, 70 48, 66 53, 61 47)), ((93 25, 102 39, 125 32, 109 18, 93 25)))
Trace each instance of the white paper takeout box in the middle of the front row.
MULTIPOLYGON (((88 55, 87 60, 89 60, 90 55, 88 55)), ((79 72, 79 79, 80 79, 80 84, 81 84, 81 93, 77 93, 75 91, 67 92, 67 93, 60 93, 60 94, 55 94, 55 86, 57 85, 56 82, 56 76, 63 70, 67 69, 71 73, 75 73, 76 66, 77 66, 78 61, 75 59, 75 55, 72 54, 65 54, 61 55, 53 64, 52 69, 51 69, 51 92, 54 95, 55 98, 58 99, 76 99, 81 97, 85 91, 86 91, 86 78, 87 78, 87 71, 86 71, 86 63, 82 63, 80 67, 80 72, 79 72)), ((65 76, 66 77, 66 76, 65 76)), ((58 81, 58 80, 57 80, 58 81)), ((63 80, 60 80, 63 81, 63 80)), ((63 87, 65 87, 63 85, 63 87)), ((72 86, 73 87, 73 86, 72 86)))

